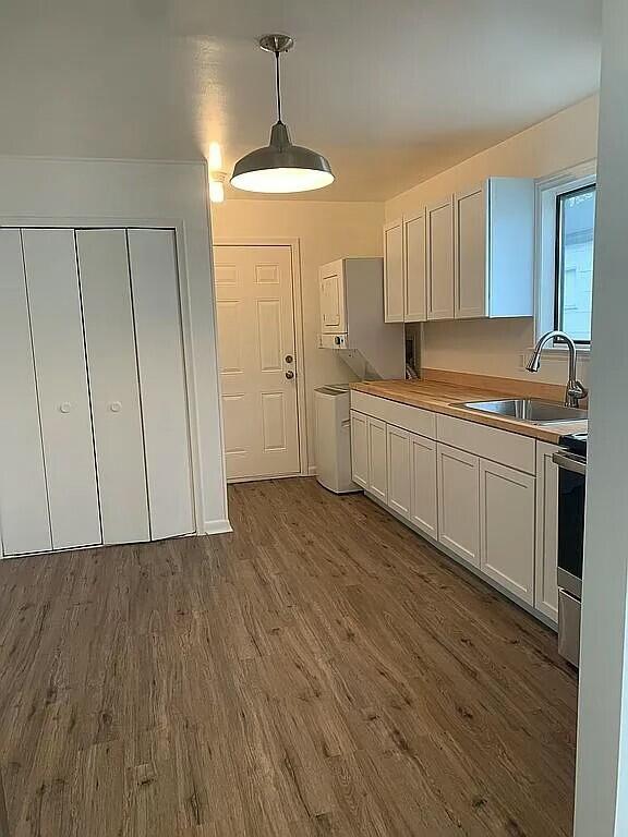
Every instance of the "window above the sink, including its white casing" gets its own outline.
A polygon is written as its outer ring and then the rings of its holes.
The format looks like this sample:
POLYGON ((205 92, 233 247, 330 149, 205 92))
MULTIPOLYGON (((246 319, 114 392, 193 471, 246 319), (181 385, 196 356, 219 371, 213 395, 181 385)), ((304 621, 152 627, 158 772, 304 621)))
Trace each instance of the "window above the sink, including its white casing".
POLYGON ((593 163, 538 182, 536 338, 559 329, 591 343, 595 195, 593 163))

